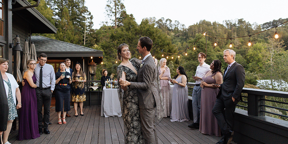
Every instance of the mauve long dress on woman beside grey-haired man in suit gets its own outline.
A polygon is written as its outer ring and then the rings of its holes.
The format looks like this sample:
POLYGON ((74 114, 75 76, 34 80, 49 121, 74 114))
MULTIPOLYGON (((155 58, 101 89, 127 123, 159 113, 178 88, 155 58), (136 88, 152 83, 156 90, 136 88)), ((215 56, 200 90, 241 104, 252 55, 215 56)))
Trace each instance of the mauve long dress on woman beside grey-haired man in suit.
MULTIPOLYGON (((206 72, 208 73, 208 71, 206 72)), ((220 73, 220 72, 217 72, 220 73)), ((206 75, 206 74, 205 74, 206 75)), ((215 84, 216 81, 212 77, 216 75, 213 73, 205 77, 202 77, 204 82, 207 84, 215 84)), ((204 87, 204 90, 201 92, 201 111, 200 111, 200 127, 199 131, 202 134, 216 135, 217 137, 221 136, 221 131, 218 126, 218 122, 215 116, 212 113, 212 109, 214 107, 216 96, 219 92, 219 88, 210 88, 204 87)))

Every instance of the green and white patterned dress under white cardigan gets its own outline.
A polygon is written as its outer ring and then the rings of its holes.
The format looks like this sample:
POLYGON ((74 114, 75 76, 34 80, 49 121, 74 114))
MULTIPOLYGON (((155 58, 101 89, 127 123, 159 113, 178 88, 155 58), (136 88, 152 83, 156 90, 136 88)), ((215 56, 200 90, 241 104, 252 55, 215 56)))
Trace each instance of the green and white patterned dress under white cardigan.
POLYGON ((8 107, 9 107, 8 120, 14 120, 16 117, 18 117, 18 115, 17 115, 17 111, 16 111, 16 106, 15 106, 15 103, 14 103, 14 98, 13 98, 13 95, 12 95, 11 83, 10 83, 9 79, 8 79, 8 82, 6 82, 4 79, 3 79, 3 81, 9 87, 8 96, 7 96, 8 107))

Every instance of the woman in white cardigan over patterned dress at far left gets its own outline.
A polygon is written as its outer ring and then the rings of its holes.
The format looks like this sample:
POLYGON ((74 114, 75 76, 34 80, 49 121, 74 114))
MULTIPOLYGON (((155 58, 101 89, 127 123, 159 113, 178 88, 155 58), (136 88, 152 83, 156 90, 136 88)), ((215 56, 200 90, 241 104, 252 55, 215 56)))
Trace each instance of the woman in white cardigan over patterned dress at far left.
POLYGON ((0 58, 0 71, 4 82, 9 107, 7 129, 3 132, 2 140, 3 143, 9 144, 8 136, 12 127, 12 122, 16 117, 18 117, 16 109, 20 109, 22 103, 19 85, 12 74, 6 73, 7 70, 8 60, 5 58, 0 58), (18 101, 17 105, 16 99, 18 101))

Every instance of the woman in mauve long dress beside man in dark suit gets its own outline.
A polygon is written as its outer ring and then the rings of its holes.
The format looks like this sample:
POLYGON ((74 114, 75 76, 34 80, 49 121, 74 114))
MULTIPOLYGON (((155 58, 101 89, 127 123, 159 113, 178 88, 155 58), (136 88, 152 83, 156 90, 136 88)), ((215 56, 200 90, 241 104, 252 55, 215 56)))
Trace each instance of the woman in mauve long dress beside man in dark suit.
POLYGON ((212 113, 216 96, 219 92, 219 84, 222 84, 221 62, 213 60, 210 64, 210 71, 202 77, 201 87, 201 111, 200 111, 200 127, 202 134, 221 136, 221 131, 217 120, 212 113))

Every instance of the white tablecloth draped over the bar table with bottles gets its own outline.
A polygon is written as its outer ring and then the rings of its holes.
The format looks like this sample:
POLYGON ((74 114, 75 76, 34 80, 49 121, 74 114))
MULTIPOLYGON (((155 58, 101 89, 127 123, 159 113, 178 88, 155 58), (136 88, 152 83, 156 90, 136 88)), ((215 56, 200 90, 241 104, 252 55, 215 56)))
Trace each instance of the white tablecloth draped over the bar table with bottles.
POLYGON ((117 88, 103 88, 101 116, 122 116, 117 88))

